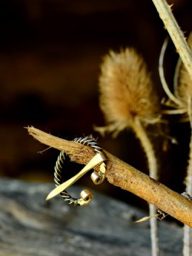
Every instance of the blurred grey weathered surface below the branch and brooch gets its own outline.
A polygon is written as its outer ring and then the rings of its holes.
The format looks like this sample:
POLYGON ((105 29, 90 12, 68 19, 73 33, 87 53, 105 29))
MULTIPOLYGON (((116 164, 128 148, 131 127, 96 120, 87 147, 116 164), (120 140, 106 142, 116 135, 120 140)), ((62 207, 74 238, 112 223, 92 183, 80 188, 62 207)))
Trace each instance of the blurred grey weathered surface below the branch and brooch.
MULTIPOLYGON (((151 255, 149 222, 134 223, 143 212, 98 193, 84 207, 60 196, 45 201, 52 188, 0 180, 0 256, 151 255)), ((181 255, 182 228, 165 221, 159 227, 161 256, 181 255)))

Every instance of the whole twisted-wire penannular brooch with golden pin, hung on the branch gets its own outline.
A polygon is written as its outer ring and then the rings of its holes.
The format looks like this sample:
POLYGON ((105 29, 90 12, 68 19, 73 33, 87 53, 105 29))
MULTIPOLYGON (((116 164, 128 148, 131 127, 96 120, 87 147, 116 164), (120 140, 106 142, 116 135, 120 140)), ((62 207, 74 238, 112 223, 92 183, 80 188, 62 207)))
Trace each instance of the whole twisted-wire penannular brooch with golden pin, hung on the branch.
POLYGON ((73 204, 74 206, 86 205, 93 198, 93 194, 91 191, 89 191, 88 189, 84 189, 80 193, 80 198, 73 198, 70 194, 68 194, 66 188, 74 184, 75 181, 81 178, 87 171, 91 170, 96 165, 99 165, 99 171, 92 172, 91 180, 94 182, 95 185, 101 184, 101 182, 104 181, 106 175, 106 164, 104 162, 106 161, 106 158, 103 153, 103 149, 100 145, 98 145, 97 141, 95 141, 94 138, 74 138, 74 142, 92 148, 96 155, 91 159, 91 161, 88 162, 88 165, 85 165, 85 167, 78 172, 77 175, 74 175, 74 177, 70 178, 68 181, 65 181, 65 183, 62 183, 62 175, 64 171, 63 165, 66 159, 65 152, 61 151, 55 163, 54 181, 56 188, 48 194, 48 197, 46 199, 51 199, 55 197, 55 195, 60 194, 64 201, 66 201, 68 204, 73 204))

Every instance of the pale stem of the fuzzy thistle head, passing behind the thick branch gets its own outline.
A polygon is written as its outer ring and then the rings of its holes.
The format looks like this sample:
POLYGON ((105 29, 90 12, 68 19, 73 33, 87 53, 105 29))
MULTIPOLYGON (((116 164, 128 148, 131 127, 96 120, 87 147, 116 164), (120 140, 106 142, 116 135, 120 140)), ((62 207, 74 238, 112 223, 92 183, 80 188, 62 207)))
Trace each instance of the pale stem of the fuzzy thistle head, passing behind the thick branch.
MULTIPOLYGON (((132 125, 137 138, 141 141, 141 145, 144 148, 145 154, 147 155, 147 162, 149 168, 149 176, 157 180, 157 160, 154 155, 154 148, 151 141, 147 137, 146 131, 144 131, 143 126, 140 121, 135 121, 132 125)), ((157 210, 153 204, 149 204, 150 216, 157 214, 157 210)), ((157 232, 157 218, 150 219, 151 224, 151 250, 152 255, 157 256, 159 254, 158 246, 158 232, 157 232)))

